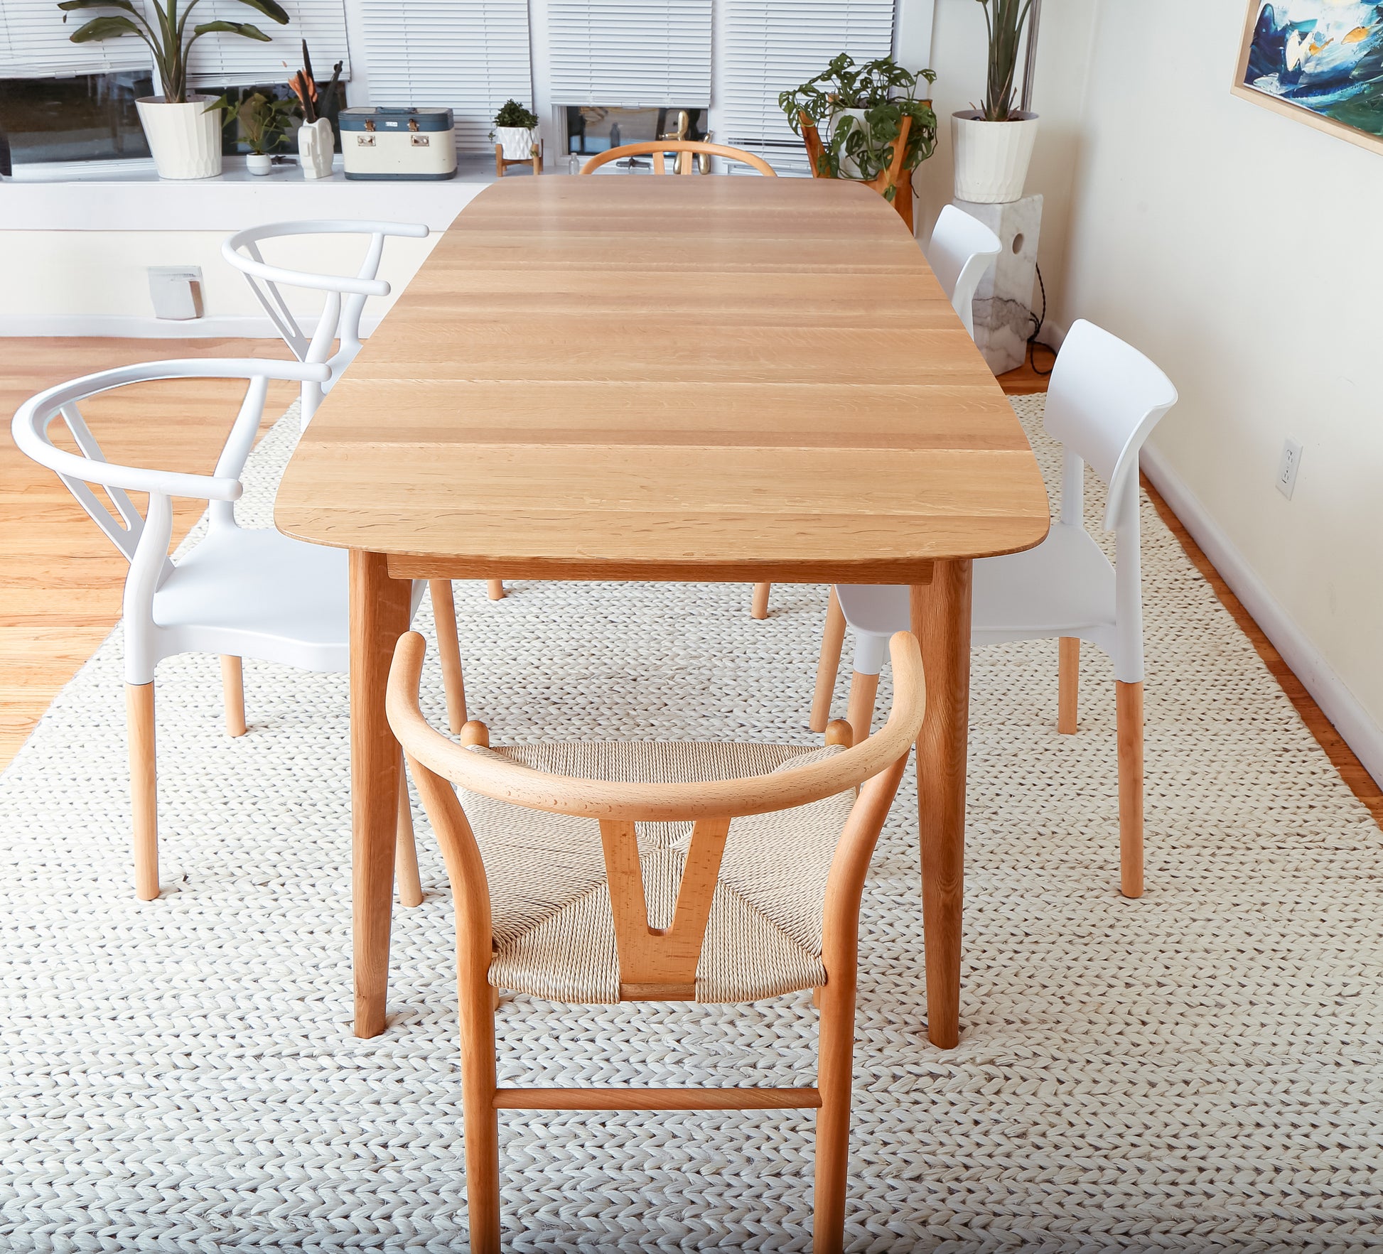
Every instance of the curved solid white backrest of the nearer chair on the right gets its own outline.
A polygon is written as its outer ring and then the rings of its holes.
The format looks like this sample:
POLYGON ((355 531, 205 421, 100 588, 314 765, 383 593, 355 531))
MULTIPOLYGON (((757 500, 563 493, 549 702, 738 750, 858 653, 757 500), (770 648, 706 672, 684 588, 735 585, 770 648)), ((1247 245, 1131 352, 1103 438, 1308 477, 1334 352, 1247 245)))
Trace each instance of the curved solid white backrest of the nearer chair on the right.
POLYGON ((1137 348, 1084 318, 1072 325, 1051 372, 1043 419, 1047 434, 1066 448, 1062 523, 1082 523, 1082 463, 1109 488, 1105 530, 1135 521, 1138 451, 1176 404, 1171 380, 1137 348))

